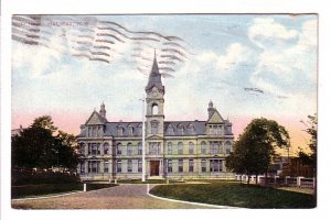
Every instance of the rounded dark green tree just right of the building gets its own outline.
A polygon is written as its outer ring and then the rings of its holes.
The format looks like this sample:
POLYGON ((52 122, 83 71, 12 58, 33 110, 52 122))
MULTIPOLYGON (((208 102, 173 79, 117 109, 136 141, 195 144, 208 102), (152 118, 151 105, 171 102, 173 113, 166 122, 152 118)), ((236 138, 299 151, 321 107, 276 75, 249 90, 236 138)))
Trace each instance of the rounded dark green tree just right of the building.
POLYGON ((274 120, 254 119, 235 142, 233 153, 226 158, 227 167, 248 177, 267 175, 277 147, 289 147, 286 129, 274 120))

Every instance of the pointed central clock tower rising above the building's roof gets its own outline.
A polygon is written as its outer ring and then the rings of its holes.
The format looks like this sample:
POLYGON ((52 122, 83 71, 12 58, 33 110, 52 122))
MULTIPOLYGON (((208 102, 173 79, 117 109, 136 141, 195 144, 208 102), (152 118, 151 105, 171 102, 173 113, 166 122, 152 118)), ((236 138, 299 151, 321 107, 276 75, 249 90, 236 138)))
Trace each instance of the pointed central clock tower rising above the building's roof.
POLYGON ((164 86, 159 73, 157 57, 154 55, 153 65, 149 74, 146 90, 146 128, 148 136, 163 138, 164 127, 164 86))

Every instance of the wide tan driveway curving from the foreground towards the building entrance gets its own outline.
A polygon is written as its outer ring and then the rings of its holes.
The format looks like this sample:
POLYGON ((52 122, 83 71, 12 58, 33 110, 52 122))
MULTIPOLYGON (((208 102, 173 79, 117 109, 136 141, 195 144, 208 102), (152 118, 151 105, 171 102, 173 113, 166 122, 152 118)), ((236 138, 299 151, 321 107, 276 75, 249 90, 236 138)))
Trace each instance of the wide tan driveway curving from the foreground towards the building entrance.
MULTIPOLYGON (((154 185, 151 185, 152 188, 154 185)), ((148 196, 148 185, 120 185, 87 193, 33 200, 12 200, 18 209, 205 209, 206 206, 148 196)), ((212 207, 210 207, 212 208, 212 207)), ((220 207, 221 208, 221 207, 220 207)), ((226 208, 226 207, 224 207, 226 208)))

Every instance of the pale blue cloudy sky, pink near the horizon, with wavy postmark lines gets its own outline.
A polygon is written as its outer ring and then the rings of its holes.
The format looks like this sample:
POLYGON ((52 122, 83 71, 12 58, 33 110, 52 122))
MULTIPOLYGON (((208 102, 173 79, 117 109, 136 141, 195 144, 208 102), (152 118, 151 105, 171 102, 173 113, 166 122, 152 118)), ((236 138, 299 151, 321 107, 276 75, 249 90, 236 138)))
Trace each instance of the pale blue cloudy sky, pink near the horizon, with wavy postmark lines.
POLYGON ((156 54, 166 120, 206 120, 212 100, 235 138, 273 119, 295 153, 309 142, 300 121, 317 112, 317 29, 316 14, 17 16, 12 129, 50 114, 78 134, 102 102, 108 121, 141 121, 156 54))

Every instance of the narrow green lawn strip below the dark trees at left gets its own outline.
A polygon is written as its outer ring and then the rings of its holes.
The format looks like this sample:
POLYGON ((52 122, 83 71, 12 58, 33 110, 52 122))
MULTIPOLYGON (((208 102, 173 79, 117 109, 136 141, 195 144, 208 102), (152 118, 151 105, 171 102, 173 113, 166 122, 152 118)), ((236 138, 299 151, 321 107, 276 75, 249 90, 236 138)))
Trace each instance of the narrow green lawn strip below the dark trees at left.
MULTIPOLYGON (((100 188, 108 188, 117 186, 115 184, 87 184, 86 190, 95 190, 100 188)), ((26 198, 45 195, 56 195, 71 191, 82 191, 82 183, 70 183, 70 184, 42 184, 42 185, 25 185, 25 186, 12 186, 11 198, 26 198)))

